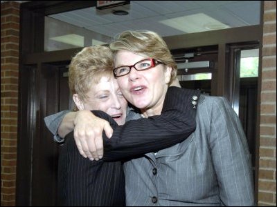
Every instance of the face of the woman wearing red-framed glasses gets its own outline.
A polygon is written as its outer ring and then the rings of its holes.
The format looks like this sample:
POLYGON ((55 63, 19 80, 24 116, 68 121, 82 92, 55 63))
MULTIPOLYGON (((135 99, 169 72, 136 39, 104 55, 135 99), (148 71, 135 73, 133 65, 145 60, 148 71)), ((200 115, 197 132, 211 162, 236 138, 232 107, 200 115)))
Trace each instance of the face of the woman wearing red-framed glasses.
MULTIPOLYGON (((115 68, 119 66, 133 66, 135 63, 147 59, 127 50, 119 50, 115 57, 115 68)), ((124 97, 141 111, 148 109, 159 114, 170 81, 171 68, 159 64, 148 70, 138 71, 131 68, 129 74, 118 77, 118 86, 124 97)))

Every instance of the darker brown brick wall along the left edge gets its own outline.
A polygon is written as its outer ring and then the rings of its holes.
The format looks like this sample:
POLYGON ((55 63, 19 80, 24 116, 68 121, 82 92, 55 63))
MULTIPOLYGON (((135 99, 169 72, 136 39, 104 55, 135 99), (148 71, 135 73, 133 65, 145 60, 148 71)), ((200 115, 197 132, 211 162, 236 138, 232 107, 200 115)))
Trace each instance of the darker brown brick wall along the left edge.
POLYGON ((15 206, 19 3, 1 3, 1 206, 15 206))

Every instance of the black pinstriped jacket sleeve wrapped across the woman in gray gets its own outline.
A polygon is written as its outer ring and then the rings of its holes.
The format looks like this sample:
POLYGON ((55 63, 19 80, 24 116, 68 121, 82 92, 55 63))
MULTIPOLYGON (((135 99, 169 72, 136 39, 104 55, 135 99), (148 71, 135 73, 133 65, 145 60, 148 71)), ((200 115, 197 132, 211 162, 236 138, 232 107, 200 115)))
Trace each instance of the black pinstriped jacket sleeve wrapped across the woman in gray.
POLYGON ((103 132, 103 160, 132 158, 184 141, 196 128, 196 108, 193 108, 192 101, 193 97, 199 99, 199 93, 197 90, 169 87, 161 115, 131 120, 123 126, 118 126, 105 112, 92 111, 109 121, 114 130, 111 139, 103 132))

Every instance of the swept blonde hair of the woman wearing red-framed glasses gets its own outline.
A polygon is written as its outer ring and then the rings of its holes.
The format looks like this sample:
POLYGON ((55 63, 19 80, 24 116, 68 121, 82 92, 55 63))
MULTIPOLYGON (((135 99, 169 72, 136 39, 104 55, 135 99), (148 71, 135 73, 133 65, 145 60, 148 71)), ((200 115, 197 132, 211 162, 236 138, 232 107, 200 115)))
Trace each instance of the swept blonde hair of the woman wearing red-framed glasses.
POLYGON ((173 59, 166 42, 156 32, 148 30, 128 30, 118 34, 111 41, 109 47, 114 52, 114 55, 119 50, 127 50, 134 52, 136 55, 157 59, 172 68, 170 83, 176 79, 177 63, 173 59))

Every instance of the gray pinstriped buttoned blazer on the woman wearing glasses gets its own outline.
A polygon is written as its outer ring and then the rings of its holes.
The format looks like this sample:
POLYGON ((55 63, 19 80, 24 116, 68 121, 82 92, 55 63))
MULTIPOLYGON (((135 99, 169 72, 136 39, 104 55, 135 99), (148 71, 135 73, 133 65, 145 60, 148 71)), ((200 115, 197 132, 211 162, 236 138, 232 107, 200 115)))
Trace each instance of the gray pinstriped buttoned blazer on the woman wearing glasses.
POLYGON ((251 157, 226 99, 202 95, 188 139, 125 162, 127 206, 253 206, 251 157))

